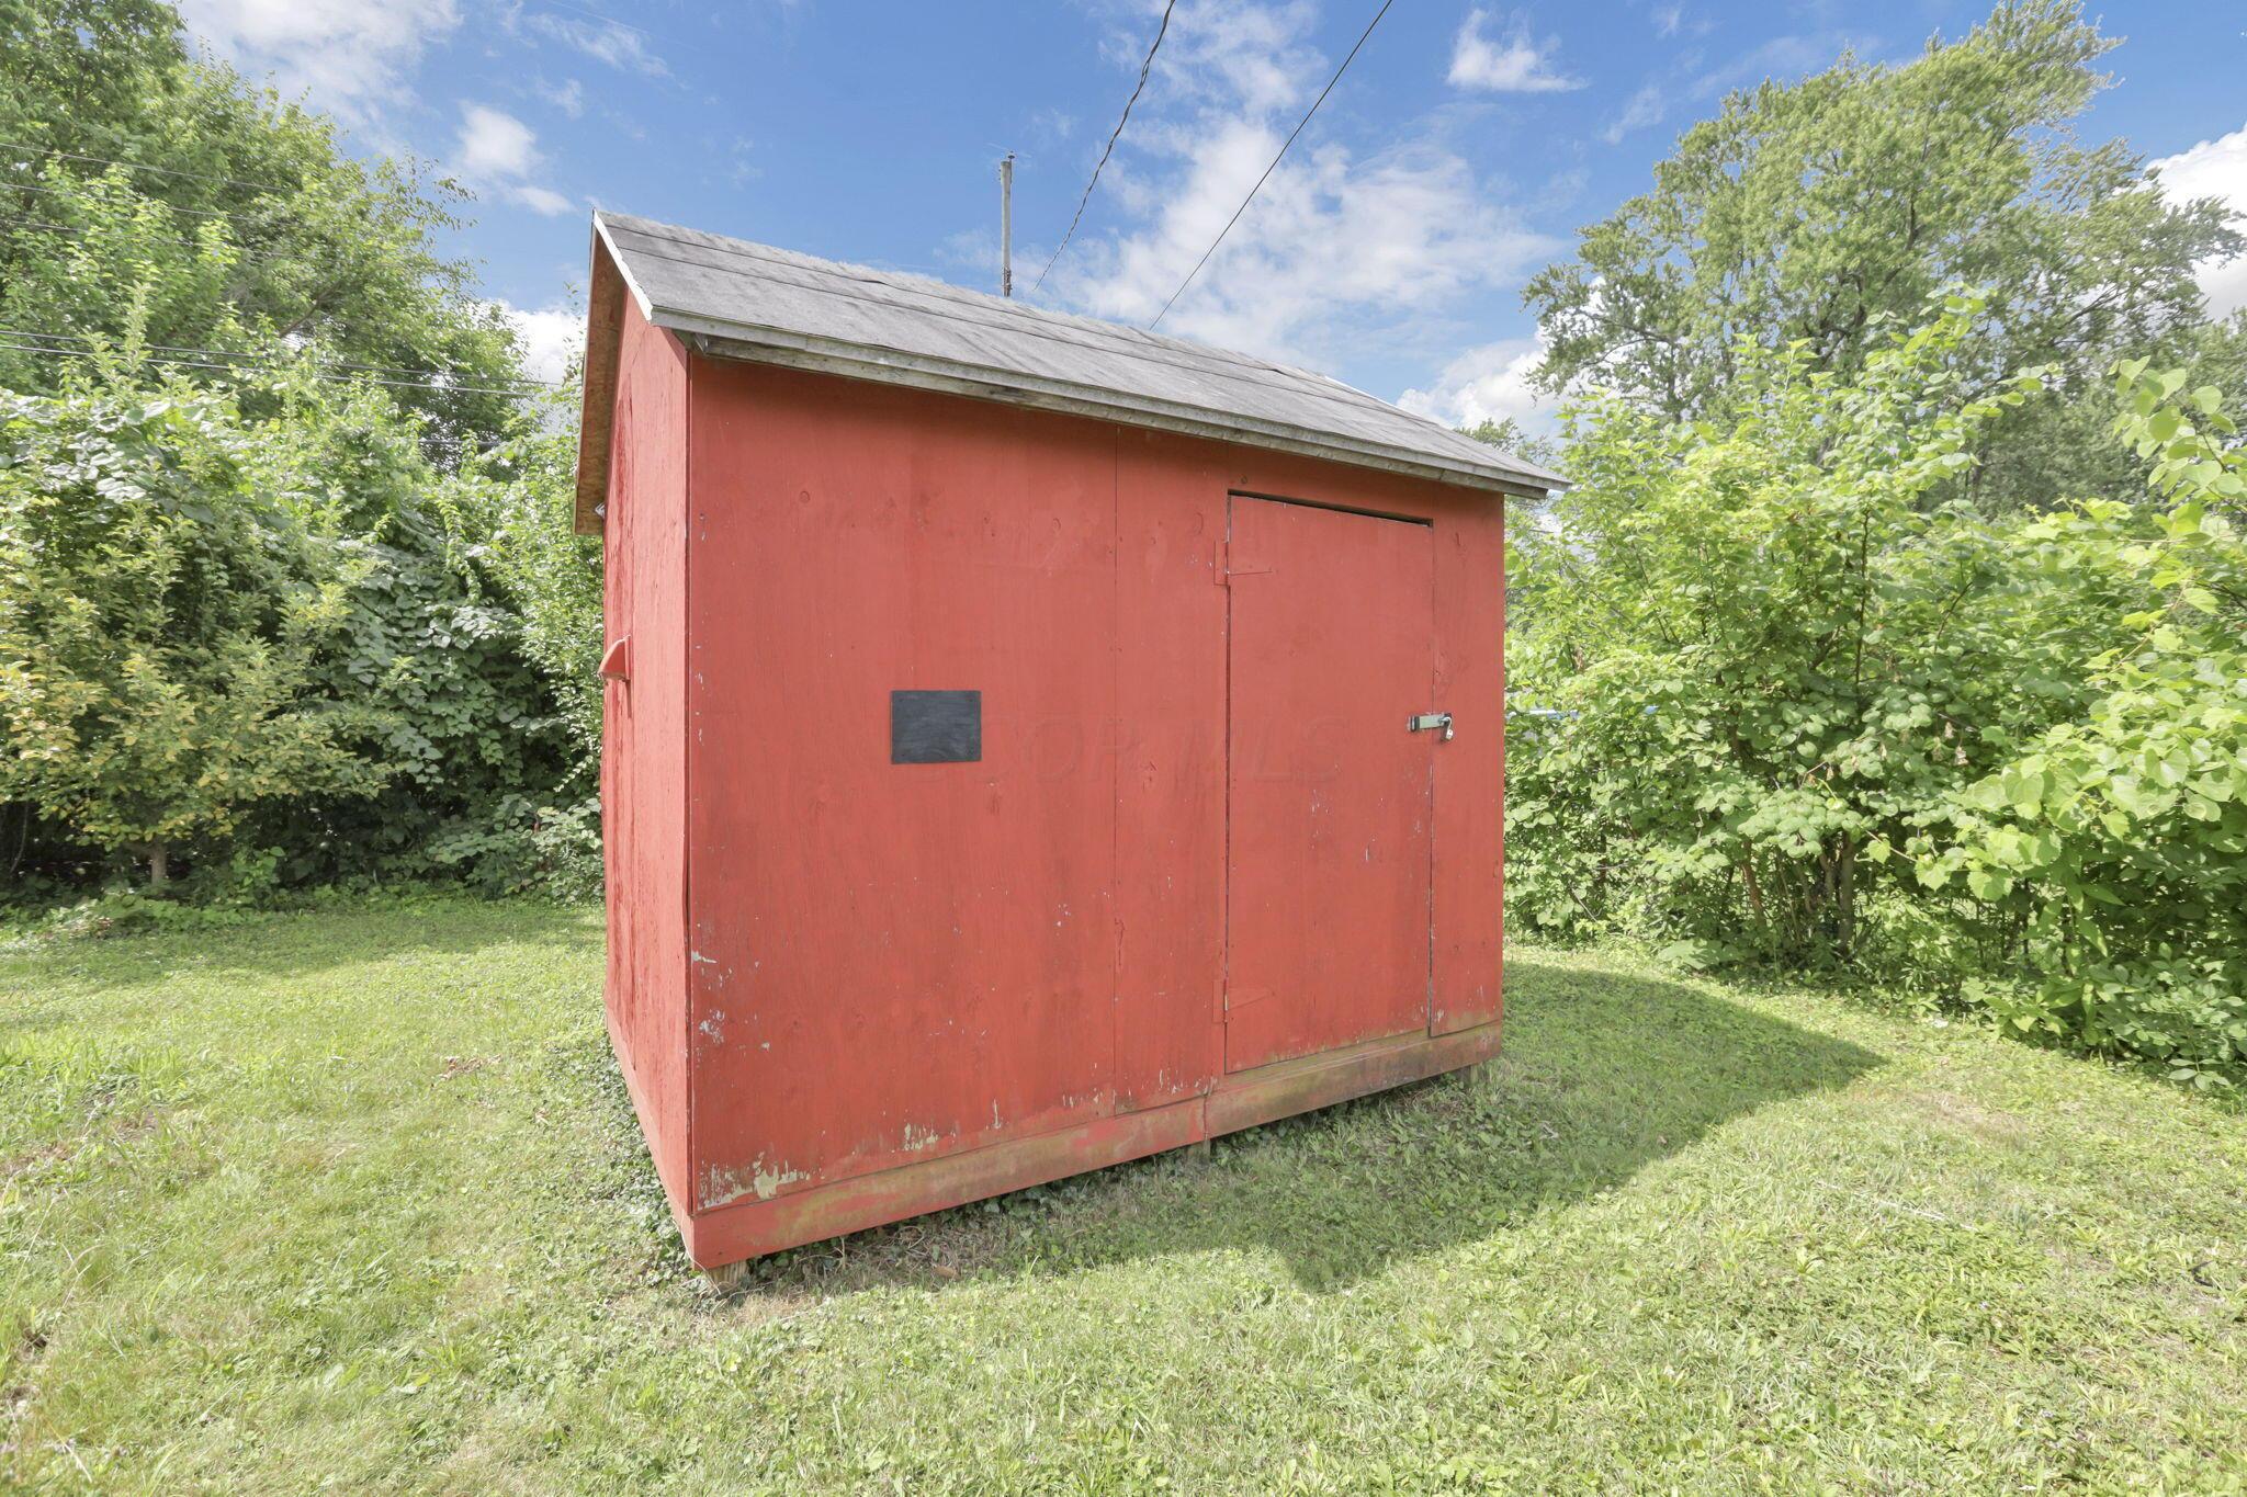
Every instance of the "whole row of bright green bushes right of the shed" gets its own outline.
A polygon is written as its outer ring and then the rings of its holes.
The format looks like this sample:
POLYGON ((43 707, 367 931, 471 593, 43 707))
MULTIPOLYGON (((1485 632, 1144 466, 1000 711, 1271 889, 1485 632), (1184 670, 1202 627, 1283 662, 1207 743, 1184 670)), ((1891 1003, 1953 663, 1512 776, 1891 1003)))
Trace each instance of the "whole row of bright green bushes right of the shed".
POLYGON ((1984 514, 1953 299, 1728 424, 1611 399, 1512 559, 1517 927, 1874 976, 2218 1084, 2247 1066, 2247 456, 2121 370, 2153 498, 1984 514))

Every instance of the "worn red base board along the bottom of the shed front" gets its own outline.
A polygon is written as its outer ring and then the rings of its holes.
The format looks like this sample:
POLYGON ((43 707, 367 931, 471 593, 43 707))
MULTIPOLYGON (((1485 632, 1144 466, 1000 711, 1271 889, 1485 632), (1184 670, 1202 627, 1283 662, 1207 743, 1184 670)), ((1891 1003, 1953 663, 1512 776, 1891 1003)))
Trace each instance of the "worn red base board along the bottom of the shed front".
MULTIPOLYGON (((672 1203, 688 1257, 699 1268, 721 1268, 782 1248, 843 1237, 924 1212, 1002 1196, 1063 1176, 1103 1169, 1166 1149, 1207 1142, 1218 1133, 1252 1129, 1350 1098, 1474 1066, 1499 1053, 1499 1026, 1483 1023, 1452 1035, 1395 1035, 1346 1050, 1238 1071, 1200 1098, 1097 1118, 1054 1133, 897 1165, 874 1174, 816 1185, 771 1201, 737 1201, 688 1216, 672 1203)), ((643 1113, 638 1082, 625 1066, 631 1102, 643 1113)))

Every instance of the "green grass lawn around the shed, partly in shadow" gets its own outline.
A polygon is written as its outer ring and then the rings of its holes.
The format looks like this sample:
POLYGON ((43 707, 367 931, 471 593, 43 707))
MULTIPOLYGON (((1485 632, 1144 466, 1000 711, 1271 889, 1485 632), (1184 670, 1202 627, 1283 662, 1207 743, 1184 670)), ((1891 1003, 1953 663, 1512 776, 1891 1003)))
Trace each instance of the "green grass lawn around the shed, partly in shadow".
POLYGON ((0 1481, 2238 1490, 2247 1118, 1514 952, 1508 1050, 683 1268, 542 907, 0 956, 0 1481))

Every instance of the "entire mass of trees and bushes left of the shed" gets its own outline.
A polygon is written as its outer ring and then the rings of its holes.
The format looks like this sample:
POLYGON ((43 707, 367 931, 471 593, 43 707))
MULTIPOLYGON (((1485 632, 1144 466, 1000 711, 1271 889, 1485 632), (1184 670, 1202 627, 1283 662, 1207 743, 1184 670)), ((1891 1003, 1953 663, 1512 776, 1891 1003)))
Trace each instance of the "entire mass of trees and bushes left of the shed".
POLYGON ((586 687, 557 581, 494 550, 571 438, 436 247, 465 195, 191 58, 166 4, 0 0, 0 523, 38 599, 0 669, 43 745, 0 783, 9 842, 58 871, 162 844, 236 882, 582 887, 586 687), (72 460, 117 485, 88 505, 40 433, 112 429, 72 460), (94 539, 58 548, 58 516, 94 539))

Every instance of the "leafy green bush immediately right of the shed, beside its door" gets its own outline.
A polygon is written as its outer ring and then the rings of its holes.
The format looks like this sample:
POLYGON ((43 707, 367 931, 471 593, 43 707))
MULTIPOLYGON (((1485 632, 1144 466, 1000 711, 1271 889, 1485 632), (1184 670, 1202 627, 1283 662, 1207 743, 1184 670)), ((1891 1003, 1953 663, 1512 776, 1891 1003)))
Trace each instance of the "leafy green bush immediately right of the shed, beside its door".
POLYGON ((1847 961, 1894 880, 1867 846, 2081 707, 2144 590, 2025 570, 2022 521, 1971 500, 1975 442, 2040 382, 1980 391, 1980 337, 1950 299, 1849 384, 1744 343, 1721 426, 1568 415, 1575 487, 1510 545, 1517 918, 1627 896, 1708 949, 1847 961))

